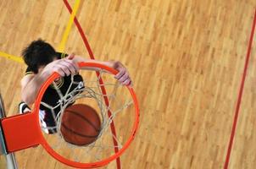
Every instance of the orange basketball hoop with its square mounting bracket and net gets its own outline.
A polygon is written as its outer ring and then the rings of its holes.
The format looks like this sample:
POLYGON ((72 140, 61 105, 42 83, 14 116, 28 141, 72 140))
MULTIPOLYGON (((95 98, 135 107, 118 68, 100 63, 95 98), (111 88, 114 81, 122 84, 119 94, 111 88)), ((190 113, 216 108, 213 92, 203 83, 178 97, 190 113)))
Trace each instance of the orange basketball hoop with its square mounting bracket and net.
POLYGON ((56 122, 53 128, 57 130, 57 134, 44 134, 42 130, 49 128, 39 121, 40 106, 54 109, 53 106, 42 102, 42 97, 47 87, 54 85, 54 80, 59 78, 57 73, 51 75, 42 85, 31 113, 3 119, 3 131, 9 152, 41 144, 50 155, 68 166, 91 168, 114 161, 129 147, 135 138, 139 123, 135 91, 131 87, 117 83, 113 74, 118 72, 113 68, 98 63, 79 63, 79 67, 84 85, 71 78, 70 86, 75 85, 74 90, 69 88, 66 93, 57 90, 60 110, 58 113, 53 112, 56 122), (82 69, 85 67, 97 68, 98 76, 95 77, 93 71, 82 69), (74 102, 89 104, 98 112, 101 130, 92 144, 70 144, 64 140, 60 132, 64 110, 74 102))

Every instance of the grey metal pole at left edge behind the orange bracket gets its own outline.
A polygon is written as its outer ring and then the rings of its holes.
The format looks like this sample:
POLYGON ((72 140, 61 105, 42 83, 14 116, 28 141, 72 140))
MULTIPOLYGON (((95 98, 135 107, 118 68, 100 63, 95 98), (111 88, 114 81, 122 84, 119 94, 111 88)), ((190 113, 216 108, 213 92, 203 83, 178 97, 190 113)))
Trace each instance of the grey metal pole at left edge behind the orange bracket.
MULTIPOLYGON (((2 98, 2 95, 0 94, 0 118, 3 118, 3 117, 6 117, 6 114, 5 114, 5 111, 4 111, 3 98, 2 98)), ((3 136, 2 127, 0 128, 0 134, 1 134, 0 148, 1 148, 1 151, 2 151, 2 152, 0 152, 0 155, 1 155, 1 153, 3 155, 5 155, 6 161, 7 161, 6 162, 7 169, 18 169, 14 153, 8 153, 7 150, 6 150, 6 147, 5 147, 5 144, 4 144, 4 139, 3 139, 4 136, 3 136)))

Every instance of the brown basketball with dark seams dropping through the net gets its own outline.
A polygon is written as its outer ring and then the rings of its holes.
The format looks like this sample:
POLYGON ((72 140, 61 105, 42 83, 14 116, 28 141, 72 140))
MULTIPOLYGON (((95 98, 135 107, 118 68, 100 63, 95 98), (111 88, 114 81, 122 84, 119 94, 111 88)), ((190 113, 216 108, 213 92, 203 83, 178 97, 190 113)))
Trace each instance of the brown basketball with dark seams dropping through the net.
POLYGON ((65 109, 60 131, 66 142, 80 146, 91 144, 100 129, 100 117, 91 106, 76 104, 65 109))

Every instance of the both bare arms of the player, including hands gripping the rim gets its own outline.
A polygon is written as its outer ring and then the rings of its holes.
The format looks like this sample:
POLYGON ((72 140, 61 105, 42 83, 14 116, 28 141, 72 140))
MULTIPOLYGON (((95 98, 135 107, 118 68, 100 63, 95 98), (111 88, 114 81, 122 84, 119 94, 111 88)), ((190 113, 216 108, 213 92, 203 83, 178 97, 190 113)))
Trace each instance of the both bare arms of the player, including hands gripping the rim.
MULTIPOLYGON (((58 59, 52 63, 47 64, 44 68, 39 68, 38 74, 26 75, 21 80, 21 95, 22 101, 25 101, 27 104, 33 104, 36 100, 36 95, 40 90, 42 84, 46 79, 52 75, 54 72, 58 73, 60 76, 69 76, 70 74, 77 74, 79 72, 78 64, 80 62, 87 63, 102 63, 110 68, 115 68, 119 71, 115 75, 115 78, 122 85, 131 85, 131 79, 129 77, 128 71, 120 62, 102 62, 92 59, 85 59, 83 57, 70 55, 64 59, 58 59)), ((86 68, 86 69, 97 69, 97 68, 86 68)))

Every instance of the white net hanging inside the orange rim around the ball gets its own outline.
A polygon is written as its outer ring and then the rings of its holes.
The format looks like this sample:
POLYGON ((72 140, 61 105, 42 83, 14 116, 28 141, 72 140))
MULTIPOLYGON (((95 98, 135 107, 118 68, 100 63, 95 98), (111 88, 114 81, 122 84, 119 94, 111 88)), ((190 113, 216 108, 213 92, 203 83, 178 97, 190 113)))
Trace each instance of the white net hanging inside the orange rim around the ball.
POLYGON ((80 74, 84 81, 75 81, 74 76, 71 76, 70 85, 65 92, 59 89, 56 82, 53 82, 58 102, 51 106, 46 101, 42 101, 41 106, 47 107, 48 112, 45 111, 45 113, 51 113, 54 125, 47 126, 41 117, 42 133, 53 150, 70 161, 81 163, 103 161, 110 155, 114 155, 114 149, 120 150, 131 136, 135 119, 134 102, 129 90, 120 85, 112 74, 105 73, 103 70, 99 70, 99 76, 94 71, 88 70, 81 70, 80 74), (101 83, 101 79, 104 83, 101 83), (78 146, 64 140, 60 131, 62 117, 64 110, 72 104, 86 104, 97 111, 101 129, 92 144, 78 146), (49 130, 56 133, 47 134, 49 130))

